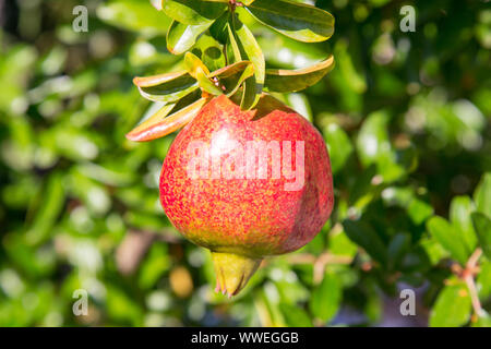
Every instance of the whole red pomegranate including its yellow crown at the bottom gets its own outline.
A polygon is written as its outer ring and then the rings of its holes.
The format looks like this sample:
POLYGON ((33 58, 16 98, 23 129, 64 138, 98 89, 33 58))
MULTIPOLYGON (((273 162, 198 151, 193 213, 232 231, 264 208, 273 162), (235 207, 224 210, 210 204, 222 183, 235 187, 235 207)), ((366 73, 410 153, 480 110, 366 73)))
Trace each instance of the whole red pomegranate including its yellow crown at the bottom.
POLYGON ((177 230, 212 251, 217 290, 229 297, 264 256, 311 241, 334 205, 323 137, 266 94, 250 111, 211 100, 173 141, 159 188, 177 230))

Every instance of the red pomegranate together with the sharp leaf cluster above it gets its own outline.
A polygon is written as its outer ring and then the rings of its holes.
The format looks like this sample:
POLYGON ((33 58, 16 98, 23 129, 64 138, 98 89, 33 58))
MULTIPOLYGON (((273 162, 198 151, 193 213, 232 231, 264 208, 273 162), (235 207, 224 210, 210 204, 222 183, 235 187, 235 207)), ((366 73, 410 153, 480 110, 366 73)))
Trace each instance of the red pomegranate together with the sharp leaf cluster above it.
POLYGON ((263 257, 312 240, 334 204, 324 140, 272 95, 315 84, 334 59, 294 71, 265 69, 238 12, 308 43, 327 39, 334 20, 289 0, 164 0, 159 9, 175 20, 169 50, 197 49, 184 55, 182 71, 134 79, 161 108, 127 136, 151 141, 183 127, 164 160, 160 202, 182 236, 211 250, 217 291, 230 297, 263 257))

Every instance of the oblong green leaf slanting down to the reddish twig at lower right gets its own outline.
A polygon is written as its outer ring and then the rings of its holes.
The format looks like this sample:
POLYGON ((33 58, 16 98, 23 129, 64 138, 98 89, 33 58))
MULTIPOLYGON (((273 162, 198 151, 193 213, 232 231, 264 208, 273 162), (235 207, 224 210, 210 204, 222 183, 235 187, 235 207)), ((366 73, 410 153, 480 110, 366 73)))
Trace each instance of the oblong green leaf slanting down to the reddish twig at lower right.
POLYGON ((427 222, 427 229, 455 260, 466 264, 470 252, 466 248, 464 237, 447 220, 435 216, 427 222))

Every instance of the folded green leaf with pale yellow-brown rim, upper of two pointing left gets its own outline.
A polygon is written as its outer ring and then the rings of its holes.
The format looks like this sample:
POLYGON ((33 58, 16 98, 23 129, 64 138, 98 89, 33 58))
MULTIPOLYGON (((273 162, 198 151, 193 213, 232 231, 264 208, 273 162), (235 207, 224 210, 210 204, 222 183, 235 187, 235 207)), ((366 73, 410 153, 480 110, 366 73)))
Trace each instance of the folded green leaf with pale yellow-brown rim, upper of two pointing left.
POLYGON ((133 83, 143 97, 153 101, 177 101, 199 88, 195 79, 185 71, 135 77, 133 83))

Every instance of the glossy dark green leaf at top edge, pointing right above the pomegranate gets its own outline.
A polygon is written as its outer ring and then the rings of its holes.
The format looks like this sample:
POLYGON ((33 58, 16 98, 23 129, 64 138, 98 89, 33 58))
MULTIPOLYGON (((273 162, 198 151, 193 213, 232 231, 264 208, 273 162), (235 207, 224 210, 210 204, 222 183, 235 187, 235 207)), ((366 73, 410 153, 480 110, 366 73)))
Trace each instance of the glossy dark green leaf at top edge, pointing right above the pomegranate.
POLYGON ((299 41, 324 41, 334 33, 333 15, 309 4, 290 0, 255 0, 247 9, 264 25, 299 41))

